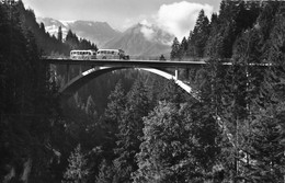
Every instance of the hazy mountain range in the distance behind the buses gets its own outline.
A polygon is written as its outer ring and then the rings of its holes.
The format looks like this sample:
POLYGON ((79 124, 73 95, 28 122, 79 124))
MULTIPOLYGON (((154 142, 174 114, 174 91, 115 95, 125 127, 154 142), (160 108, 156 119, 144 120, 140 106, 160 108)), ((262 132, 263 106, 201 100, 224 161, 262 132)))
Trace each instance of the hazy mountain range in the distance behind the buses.
POLYGON ((107 22, 94 21, 58 21, 50 18, 37 18, 45 24, 46 31, 57 36, 58 27, 61 26, 62 35, 66 36, 71 30, 79 37, 87 38, 98 45, 99 48, 121 48, 132 56, 169 56, 173 35, 161 28, 137 23, 126 31, 118 32, 107 22))

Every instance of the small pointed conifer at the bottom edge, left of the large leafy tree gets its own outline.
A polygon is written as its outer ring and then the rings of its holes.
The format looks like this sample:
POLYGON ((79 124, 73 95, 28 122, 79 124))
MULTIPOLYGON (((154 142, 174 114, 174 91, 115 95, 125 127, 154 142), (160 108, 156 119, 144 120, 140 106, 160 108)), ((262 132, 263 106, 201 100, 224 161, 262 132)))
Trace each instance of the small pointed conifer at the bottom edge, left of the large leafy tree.
POLYGON ((68 159, 69 165, 67 171, 64 174, 65 183, 86 183, 89 171, 87 169, 87 159, 81 152, 80 144, 75 149, 75 152, 71 152, 68 159))

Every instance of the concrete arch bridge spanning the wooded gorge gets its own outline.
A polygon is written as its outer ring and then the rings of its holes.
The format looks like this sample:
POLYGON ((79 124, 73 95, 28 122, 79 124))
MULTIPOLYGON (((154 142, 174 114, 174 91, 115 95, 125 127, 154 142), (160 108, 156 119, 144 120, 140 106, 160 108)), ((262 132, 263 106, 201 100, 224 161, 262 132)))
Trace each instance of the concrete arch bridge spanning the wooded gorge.
POLYGON ((66 66, 67 83, 59 89, 59 93, 62 100, 67 100, 72 96, 82 85, 87 84, 94 78, 112 72, 119 69, 141 69, 156 73, 169 80, 174 80, 187 93, 197 98, 192 88, 179 80, 180 68, 198 68, 206 65, 206 60, 190 60, 190 61, 160 61, 160 60, 107 60, 107 59, 95 59, 95 60, 79 60, 79 59, 56 59, 56 58, 43 58, 46 64, 64 65, 66 66), (80 75, 70 79, 70 66, 79 66, 80 75), (82 67, 90 67, 89 70, 82 71, 82 67), (174 70, 174 75, 170 73, 166 69, 171 68, 174 70))

